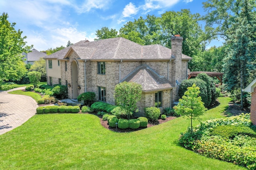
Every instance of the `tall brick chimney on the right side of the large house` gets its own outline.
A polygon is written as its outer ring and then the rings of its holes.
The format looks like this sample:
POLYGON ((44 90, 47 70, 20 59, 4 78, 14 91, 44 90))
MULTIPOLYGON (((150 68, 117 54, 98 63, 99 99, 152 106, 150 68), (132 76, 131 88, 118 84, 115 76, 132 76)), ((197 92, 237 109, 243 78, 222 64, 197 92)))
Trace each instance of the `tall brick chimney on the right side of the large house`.
POLYGON ((172 57, 175 58, 174 61, 174 82, 176 83, 176 80, 178 82, 181 82, 182 80, 182 41, 183 37, 180 37, 180 35, 174 35, 174 37, 171 37, 171 44, 172 44, 172 57))

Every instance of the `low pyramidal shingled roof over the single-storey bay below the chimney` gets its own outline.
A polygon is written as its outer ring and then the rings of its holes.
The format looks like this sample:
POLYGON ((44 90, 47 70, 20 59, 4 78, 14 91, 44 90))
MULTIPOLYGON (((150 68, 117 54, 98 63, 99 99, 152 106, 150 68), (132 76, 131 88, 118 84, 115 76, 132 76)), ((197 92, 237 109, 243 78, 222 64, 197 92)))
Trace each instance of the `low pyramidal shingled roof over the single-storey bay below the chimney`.
POLYGON ((169 80, 157 74, 147 64, 141 64, 133 72, 128 74, 122 82, 136 82, 142 85, 143 92, 168 90, 174 88, 169 80))

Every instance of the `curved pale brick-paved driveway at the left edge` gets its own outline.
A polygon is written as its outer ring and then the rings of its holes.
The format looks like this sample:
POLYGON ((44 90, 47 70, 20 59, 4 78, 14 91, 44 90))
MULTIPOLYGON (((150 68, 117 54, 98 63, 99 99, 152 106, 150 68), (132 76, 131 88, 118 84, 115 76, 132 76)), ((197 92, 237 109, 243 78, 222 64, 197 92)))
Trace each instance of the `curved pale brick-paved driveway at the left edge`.
POLYGON ((36 113, 38 105, 33 98, 7 93, 22 89, 24 87, 0 92, 0 135, 22 125, 36 113))

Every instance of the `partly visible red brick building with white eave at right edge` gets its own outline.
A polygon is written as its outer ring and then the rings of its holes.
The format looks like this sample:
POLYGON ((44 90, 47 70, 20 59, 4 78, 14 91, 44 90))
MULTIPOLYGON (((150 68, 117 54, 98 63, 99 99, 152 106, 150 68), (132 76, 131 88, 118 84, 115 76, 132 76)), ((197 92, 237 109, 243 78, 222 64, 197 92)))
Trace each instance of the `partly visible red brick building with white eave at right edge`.
POLYGON ((243 91, 252 94, 250 119, 252 123, 256 125, 256 79, 253 80, 243 91))

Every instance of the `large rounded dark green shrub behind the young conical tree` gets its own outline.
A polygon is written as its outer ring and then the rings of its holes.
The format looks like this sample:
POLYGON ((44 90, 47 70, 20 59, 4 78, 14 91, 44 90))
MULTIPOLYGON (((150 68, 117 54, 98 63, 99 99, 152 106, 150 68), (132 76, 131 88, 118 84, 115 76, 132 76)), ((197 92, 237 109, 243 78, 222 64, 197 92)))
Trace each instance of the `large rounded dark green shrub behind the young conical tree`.
POLYGON ((196 84, 196 86, 198 86, 200 88, 199 96, 201 96, 202 102, 204 102, 204 106, 205 107, 210 106, 210 102, 208 102, 206 82, 204 82, 204 80, 201 80, 198 78, 183 80, 181 82, 180 89, 178 92, 180 98, 182 98, 182 96, 184 96, 184 93, 188 90, 188 87, 192 87, 193 84, 196 84))

